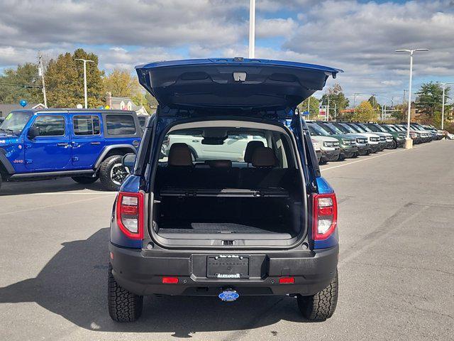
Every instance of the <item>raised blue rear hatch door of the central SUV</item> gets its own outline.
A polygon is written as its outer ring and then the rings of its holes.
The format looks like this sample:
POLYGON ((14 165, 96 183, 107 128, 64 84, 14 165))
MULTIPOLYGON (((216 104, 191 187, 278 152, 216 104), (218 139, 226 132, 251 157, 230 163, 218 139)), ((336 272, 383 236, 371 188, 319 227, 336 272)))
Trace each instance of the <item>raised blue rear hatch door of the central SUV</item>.
POLYGON ((171 108, 284 109, 322 90, 341 70, 279 60, 214 58, 135 67, 139 82, 171 108))

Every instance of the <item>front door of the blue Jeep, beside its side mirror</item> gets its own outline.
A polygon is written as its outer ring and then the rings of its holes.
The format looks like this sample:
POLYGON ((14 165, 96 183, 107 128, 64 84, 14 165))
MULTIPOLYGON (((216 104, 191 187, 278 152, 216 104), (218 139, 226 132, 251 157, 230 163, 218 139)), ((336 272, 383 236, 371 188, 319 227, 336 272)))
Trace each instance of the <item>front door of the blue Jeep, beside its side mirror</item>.
POLYGON ((38 114, 31 126, 38 134, 33 139, 25 137, 26 168, 38 172, 67 170, 71 164, 67 114, 38 114))

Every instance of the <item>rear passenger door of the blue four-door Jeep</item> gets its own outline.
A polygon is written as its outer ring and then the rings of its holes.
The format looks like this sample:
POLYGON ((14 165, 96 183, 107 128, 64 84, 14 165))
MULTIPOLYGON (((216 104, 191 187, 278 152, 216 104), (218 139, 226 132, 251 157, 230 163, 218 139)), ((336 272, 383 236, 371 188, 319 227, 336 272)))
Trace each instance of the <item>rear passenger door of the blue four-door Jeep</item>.
POLYGON ((90 169, 104 148, 101 115, 80 113, 70 115, 72 168, 90 169))

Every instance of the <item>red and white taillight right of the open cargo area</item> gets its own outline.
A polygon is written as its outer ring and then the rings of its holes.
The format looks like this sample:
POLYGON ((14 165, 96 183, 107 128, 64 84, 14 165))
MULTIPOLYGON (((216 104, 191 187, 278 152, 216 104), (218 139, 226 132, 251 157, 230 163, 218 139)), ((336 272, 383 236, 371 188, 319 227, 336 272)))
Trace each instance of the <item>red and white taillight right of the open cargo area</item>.
POLYGON ((333 234, 338 222, 336 194, 314 195, 312 237, 314 240, 327 239, 333 234))

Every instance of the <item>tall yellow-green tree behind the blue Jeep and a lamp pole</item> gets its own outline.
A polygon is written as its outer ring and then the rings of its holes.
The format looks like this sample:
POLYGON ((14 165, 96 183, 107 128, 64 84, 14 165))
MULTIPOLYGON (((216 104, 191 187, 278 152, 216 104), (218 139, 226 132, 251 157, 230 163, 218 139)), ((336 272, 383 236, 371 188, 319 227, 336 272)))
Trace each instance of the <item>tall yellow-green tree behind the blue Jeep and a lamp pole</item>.
POLYGON ((73 55, 65 53, 49 61, 45 80, 50 107, 75 107, 84 103, 84 65, 76 58, 94 61, 87 63, 88 106, 93 108, 104 104, 101 80, 104 72, 98 68, 98 57, 78 48, 73 55))

